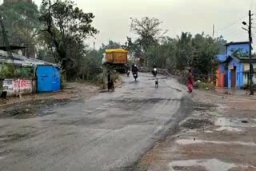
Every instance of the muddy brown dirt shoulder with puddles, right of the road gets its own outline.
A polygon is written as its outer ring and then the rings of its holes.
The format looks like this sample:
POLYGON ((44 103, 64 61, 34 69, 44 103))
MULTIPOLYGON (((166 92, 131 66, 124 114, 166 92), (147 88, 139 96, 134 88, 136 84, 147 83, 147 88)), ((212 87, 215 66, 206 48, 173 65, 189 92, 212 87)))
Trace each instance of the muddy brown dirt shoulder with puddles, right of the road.
POLYGON ((146 153, 138 170, 256 170, 256 96, 195 91, 179 132, 146 153))

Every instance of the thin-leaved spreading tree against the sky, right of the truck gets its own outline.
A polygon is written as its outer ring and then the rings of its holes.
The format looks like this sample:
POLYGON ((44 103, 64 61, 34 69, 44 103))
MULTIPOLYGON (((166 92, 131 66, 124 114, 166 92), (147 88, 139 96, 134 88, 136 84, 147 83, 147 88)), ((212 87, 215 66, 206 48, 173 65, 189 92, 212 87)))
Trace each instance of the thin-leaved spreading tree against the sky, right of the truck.
POLYGON ((157 18, 145 17, 141 20, 138 18, 130 19, 130 31, 138 35, 138 39, 134 41, 134 44, 140 50, 137 52, 137 54, 140 56, 142 61, 145 61, 145 64, 147 64, 147 51, 150 49, 150 47, 156 46, 160 38, 162 38, 167 31, 161 29, 160 26, 162 22, 160 22, 157 18))

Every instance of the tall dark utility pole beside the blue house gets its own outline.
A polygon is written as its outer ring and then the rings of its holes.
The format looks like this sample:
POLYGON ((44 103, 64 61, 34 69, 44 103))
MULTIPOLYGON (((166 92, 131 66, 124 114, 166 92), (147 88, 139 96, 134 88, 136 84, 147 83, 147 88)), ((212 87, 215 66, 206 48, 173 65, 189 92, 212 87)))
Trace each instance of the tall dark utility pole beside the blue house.
POLYGON ((251 38, 251 16, 250 10, 249 10, 249 58, 250 58, 250 95, 254 95, 254 82, 253 82, 253 74, 254 74, 254 68, 252 64, 252 56, 251 56, 251 44, 252 44, 252 38, 251 38))

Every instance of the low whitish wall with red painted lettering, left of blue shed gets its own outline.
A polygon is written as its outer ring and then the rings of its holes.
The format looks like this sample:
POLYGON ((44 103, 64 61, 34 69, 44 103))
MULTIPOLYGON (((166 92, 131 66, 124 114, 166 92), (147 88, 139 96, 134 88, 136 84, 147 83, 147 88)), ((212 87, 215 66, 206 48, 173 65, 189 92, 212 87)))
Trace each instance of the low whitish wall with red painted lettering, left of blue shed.
POLYGON ((4 79, 2 80, 2 91, 7 92, 7 96, 18 94, 35 93, 36 79, 4 79))

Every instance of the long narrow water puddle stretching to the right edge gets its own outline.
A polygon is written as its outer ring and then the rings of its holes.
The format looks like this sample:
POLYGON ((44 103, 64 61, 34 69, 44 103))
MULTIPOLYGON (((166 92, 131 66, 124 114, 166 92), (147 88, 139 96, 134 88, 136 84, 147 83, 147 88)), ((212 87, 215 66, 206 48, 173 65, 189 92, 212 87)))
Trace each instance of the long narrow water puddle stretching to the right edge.
POLYGON ((179 145, 192 145, 192 144, 204 144, 211 143, 216 145, 245 145, 245 146, 256 146, 254 142, 242 142, 242 141, 207 141, 207 140, 196 140, 196 139, 179 139, 176 141, 179 145))

